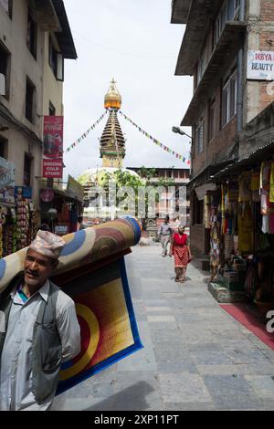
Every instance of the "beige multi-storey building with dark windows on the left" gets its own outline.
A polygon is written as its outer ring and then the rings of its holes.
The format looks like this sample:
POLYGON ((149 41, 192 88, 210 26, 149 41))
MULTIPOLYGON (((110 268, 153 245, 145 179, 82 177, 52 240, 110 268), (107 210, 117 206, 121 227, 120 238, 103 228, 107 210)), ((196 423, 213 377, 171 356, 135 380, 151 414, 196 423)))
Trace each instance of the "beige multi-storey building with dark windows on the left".
POLYGON ((43 116, 63 116, 64 59, 76 59, 62 0, 0 0, 0 157, 39 209, 43 116), (4 75, 4 78, 3 78, 4 75))

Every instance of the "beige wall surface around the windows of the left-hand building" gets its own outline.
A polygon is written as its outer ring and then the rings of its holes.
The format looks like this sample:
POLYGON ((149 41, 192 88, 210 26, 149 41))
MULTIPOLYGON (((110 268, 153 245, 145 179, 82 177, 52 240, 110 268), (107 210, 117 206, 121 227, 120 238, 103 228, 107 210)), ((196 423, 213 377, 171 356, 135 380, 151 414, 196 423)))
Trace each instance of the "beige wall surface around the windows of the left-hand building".
MULTIPOLYGON (((0 6, 0 40, 11 54, 9 98, 1 102, 18 120, 43 139, 43 115, 48 114, 49 100, 56 108, 56 114, 63 114, 63 83, 57 81, 48 63, 48 33, 37 26, 37 58, 26 45, 28 1, 13 2, 13 16, 10 19, 0 6), (36 87, 35 123, 26 119, 26 77, 36 87)), ((54 38, 54 37, 53 37, 54 38)), ((56 41, 55 41, 56 42, 56 41)), ((8 140, 8 161, 16 164, 16 184, 23 184, 25 152, 31 155, 33 199, 39 208, 39 186, 37 177, 42 173, 42 147, 8 124, 9 131, 0 135, 8 140)))

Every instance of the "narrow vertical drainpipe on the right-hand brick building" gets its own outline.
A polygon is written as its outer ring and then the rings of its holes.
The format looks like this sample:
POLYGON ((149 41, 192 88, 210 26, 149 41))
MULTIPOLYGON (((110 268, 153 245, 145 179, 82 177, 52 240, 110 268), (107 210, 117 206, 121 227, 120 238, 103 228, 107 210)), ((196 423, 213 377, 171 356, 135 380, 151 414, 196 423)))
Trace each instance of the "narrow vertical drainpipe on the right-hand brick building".
MULTIPOLYGON (((239 10, 239 20, 245 21, 246 0, 241 0, 239 10)), ((239 35, 239 49, 237 53, 237 134, 243 130, 243 109, 244 109, 244 51, 245 36, 239 35)))

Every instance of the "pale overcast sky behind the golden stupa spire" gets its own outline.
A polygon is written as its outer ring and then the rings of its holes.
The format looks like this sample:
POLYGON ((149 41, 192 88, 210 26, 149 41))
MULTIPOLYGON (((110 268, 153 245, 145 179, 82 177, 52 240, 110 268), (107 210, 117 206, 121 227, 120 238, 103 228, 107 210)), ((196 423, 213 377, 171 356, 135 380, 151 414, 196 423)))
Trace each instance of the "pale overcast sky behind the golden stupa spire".
MULTIPOLYGON (((115 78, 121 111, 187 158, 189 139, 172 127, 180 125, 193 85, 191 78, 174 76, 184 26, 170 24, 171 0, 65 0, 65 5, 79 57, 65 65, 65 149, 100 118, 115 78)), ((99 138, 106 120, 65 155, 65 177, 101 166, 99 138)), ((121 115, 119 120, 127 139, 125 167, 187 167, 121 115)))

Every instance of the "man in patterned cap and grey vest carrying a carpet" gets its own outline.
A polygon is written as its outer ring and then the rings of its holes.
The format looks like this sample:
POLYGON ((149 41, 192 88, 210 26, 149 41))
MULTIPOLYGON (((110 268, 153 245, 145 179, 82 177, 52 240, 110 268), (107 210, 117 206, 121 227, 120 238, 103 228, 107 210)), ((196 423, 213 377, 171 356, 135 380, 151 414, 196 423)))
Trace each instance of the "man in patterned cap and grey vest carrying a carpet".
POLYGON ((61 363, 79 354, 75 304, 49 280, 64 246, 58 235, 38 231, 24 272, 1 296, 1 411, 49 410, 61 363))

